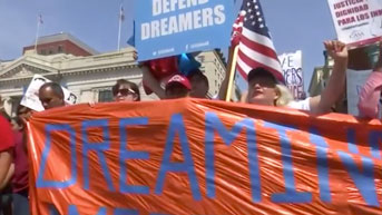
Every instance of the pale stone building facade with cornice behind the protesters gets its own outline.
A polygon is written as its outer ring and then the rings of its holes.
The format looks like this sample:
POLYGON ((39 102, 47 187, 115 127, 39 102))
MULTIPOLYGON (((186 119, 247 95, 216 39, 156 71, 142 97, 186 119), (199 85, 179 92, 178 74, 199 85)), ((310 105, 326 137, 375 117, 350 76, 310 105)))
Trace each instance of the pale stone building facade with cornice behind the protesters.
MULTIPOLYGON (((57 42, 57 41, 55 41, 57 42)), ((3 109, 14 116, 23 92, 32 77, 38 74, 59 82, 74 92, 79 102, 101 102, 112 99, 111 87, 118 79, 127 79, 140 87, 143 100, 157 97, 147 96, 141 86, 143 72, 135 60, 136 50, 125 48, 86 57, 71 53, 40 55, 27 50, 23 56, 12 61, 0 63, 0 95, 3 109)), ((202 62, 202 70, 209 81, 208 96, 218 92, 225 76, 225 62, 222 53, 214 50, 200 52, 196 59, 202 62)))

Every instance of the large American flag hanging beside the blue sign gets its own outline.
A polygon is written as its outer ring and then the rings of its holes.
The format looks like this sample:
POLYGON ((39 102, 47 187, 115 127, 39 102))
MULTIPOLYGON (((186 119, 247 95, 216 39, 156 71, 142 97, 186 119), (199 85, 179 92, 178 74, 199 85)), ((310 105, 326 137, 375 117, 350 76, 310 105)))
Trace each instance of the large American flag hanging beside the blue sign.
POLYGON ((259 0, 243 0, 242 9, 233 26, 233 46, 238 45, 237 70, 244 78, 257 67, 273 72, 284 82, 282 68, 265 25, 259 0))

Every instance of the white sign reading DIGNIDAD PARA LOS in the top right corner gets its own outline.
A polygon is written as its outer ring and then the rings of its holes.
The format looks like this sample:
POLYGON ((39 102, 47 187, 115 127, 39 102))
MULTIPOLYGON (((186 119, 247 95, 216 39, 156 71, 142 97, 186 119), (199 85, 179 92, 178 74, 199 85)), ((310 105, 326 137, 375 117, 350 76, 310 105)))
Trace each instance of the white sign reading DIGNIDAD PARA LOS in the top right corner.
POLYGON ((369 45, 382 36, 381 0, 327 0, 340 41, 369 45))

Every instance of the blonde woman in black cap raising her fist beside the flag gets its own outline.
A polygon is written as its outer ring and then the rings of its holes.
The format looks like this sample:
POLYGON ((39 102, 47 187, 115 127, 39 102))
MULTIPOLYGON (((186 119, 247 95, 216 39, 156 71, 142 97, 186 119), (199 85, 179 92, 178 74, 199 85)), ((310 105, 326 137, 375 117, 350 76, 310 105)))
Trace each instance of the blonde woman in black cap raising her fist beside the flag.
POLYGON ((329 55, 334 59, 332 76, 327 87, 320 96, 294 101, 288 89, 280 84, 276 77, 264 68, 255 68, 248 74, 247 102, 267 106, 286 106, 307 110, 313 114, 325 114, 341 97, 345 86, 347 68, 347 48, 341 41, 325 41, 329 55))

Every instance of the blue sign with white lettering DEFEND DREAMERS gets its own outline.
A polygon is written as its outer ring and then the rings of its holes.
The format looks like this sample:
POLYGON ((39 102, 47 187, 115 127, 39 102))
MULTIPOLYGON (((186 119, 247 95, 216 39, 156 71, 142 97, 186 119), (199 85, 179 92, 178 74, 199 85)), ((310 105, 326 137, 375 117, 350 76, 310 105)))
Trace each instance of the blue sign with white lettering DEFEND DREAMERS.
POLYGON ((226 48, 234 1, 137 0, 135 21, 139 61, 226 48))

